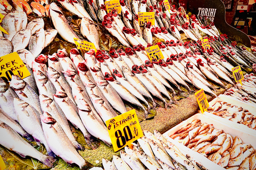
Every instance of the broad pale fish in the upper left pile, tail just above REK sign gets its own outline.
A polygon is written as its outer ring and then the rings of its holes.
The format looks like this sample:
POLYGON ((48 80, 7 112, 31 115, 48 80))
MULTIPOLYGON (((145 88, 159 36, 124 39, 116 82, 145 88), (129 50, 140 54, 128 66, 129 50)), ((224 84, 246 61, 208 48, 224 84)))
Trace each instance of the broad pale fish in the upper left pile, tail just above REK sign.
POLYGON ((31 37, 31 31, 29 29, 23 29, 15 33, 12 38, 13 52, 17 52, 19 49, 25 49, 28 46, 31 37))

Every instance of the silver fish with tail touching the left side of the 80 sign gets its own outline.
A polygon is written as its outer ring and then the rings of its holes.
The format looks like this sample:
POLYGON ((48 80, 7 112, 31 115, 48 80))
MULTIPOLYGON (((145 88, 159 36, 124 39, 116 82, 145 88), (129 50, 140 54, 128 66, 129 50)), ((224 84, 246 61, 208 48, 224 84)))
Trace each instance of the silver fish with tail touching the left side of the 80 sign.
POLYGON ((89 133, 91 133, 95 138, 105 142, 108 146, 111 146, 112 143, 108 130, 99 115, 91 112, 90 106, 84 99, 79 99, 77 107, 78 114, 80 115, 81 120, 89 133))

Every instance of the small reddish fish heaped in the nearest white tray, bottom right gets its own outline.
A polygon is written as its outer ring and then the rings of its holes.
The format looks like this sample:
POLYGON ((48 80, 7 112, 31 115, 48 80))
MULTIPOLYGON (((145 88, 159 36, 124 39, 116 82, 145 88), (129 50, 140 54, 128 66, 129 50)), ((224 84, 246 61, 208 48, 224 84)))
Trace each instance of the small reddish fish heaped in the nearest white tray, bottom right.
POLYGON ((170 137, 226 169, 255 169, 255 150, 212 124, 194 120, 170 137))

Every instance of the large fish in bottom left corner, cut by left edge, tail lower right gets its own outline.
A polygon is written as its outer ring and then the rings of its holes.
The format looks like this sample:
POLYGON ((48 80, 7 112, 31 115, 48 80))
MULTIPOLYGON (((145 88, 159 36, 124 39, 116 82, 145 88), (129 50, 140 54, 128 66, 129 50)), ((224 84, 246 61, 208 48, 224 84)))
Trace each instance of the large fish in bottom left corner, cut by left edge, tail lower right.
POLYGON ((20 137, 20 135, 15 132, 9 125, 0 121, 0 133, 4 135, 4 138, 0 139, 0 144, 7 149, 15 151, 22 157, 30 156, 38 159, 40 162, 45 165, 52 167, 55 159, 46 156, 36 150, 31 146, 27 141, 20 137))

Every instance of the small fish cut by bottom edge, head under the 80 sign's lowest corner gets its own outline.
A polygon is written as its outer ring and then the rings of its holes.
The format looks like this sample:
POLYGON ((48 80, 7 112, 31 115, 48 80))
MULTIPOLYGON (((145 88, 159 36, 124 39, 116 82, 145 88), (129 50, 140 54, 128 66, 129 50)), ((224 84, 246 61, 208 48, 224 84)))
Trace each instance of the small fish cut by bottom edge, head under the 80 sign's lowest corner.
POLYGON ((126 154, 124 151, 120 151, 121 159, 129 165, 132 169, 145 169, 144 166, 139 162, 138 159, 134 158, 131 155, 126 154))

